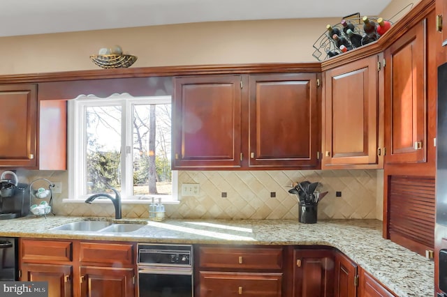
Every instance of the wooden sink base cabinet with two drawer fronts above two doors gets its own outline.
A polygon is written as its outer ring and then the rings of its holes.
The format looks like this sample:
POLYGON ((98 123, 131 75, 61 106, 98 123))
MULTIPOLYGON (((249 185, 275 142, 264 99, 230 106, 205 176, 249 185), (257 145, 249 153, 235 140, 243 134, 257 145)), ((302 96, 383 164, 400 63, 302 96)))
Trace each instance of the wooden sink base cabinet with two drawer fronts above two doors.
POLYGON ((48 282, 48 296, 134 297, 135 243, 20 238, 22 281, 48 282))

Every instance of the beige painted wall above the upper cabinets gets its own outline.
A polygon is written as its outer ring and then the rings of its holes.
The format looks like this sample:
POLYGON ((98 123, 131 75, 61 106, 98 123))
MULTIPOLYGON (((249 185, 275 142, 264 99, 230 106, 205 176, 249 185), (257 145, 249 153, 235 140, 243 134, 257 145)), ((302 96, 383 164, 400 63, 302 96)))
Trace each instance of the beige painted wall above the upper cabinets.
MULTIPOLYGON (((394 0, 381 16, 391 17, 409 2, 394 0)), ((206 22, 5 37, 0 75, 98 69, 89 56, 115 44, 138 56, 132 67, 317 61, 312 45, 326 24, 339 21, 206 22)))

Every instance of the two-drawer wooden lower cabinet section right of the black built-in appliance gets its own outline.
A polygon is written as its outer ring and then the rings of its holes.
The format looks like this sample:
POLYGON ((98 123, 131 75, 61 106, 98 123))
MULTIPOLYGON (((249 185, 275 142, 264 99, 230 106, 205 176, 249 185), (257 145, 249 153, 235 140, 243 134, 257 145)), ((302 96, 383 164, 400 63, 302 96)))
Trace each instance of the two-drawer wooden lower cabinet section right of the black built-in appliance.
POLYGON ((195 250, 194 296, 284 296, 283 247, 200 245, 195 250))

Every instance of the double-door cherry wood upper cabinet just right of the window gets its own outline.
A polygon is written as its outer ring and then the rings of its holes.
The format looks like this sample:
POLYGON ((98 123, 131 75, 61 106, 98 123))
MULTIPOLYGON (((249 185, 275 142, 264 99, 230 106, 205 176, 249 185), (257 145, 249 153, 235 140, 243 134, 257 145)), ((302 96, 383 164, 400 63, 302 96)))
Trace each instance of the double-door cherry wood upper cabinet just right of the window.
POLYGON ((316 73, 174 80, 173 169, 316 169, 316 73))

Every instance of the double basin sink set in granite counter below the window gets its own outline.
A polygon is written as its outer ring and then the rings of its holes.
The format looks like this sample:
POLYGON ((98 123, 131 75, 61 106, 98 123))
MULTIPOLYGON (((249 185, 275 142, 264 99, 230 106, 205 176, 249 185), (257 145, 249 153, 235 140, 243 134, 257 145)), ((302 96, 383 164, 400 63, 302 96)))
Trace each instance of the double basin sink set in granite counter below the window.
POLYGON ((98 233, 121 233, 136 231, 144 224, 116 223, 108 221, 80 221, 62 224, 61 226, 51 228, 51 230, 80 231, 80 232, 98 232, 98 233))

